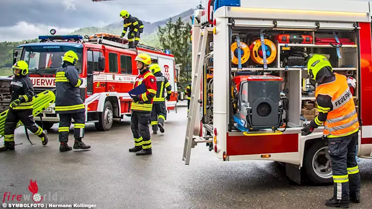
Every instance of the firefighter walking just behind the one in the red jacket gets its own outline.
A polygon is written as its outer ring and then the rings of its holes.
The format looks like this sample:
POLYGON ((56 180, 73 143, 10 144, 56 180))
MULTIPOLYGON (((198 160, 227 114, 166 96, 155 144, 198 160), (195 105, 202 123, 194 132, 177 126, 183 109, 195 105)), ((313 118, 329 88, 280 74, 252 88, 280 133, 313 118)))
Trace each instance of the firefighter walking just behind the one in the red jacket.
POLYGON ((165 91, 167 91, 167 100, 170 100, 170 93, 172 86, 168 79, 161 73, 161 68, 158 64, 152 64, 150 71, 156 78, 157 92, 154 97, 153 110, 151 111, 151 125, 153 126, 153 133, 158 132, 158 127, 161 133, 164 133, 164 120, 167 114, 167 107, 165 105, 165 91))

